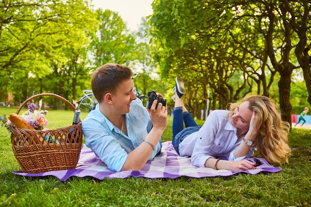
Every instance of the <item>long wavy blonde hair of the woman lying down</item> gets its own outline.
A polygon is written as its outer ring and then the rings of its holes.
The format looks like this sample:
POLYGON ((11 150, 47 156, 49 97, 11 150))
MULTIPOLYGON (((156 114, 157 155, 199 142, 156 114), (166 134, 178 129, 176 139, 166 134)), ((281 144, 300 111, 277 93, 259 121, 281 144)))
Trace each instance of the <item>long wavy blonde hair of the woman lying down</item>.
MULTIPOLYGON (((255 111, 258 118, 256 129, 259 135, 253 143, 257 152, 270 164, 288 163, 291 149, 288 145, 290 124, 281 120, 276 103, 266 96, 247 96, 241 102, 249 101, 249 109, 255 111)), ((230 104, 229 117, 232 117, 238 105, 230 104)))

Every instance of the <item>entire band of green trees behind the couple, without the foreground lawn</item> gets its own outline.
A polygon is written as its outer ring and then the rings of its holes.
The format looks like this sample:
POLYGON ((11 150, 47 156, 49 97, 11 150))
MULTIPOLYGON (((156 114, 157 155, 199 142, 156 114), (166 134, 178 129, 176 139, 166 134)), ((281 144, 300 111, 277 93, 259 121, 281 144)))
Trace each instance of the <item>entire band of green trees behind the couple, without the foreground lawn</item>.
MULTIPOLYGON (((308 0, 154 0, 133 30, 89 0, 2 1, 0 102, 19 106, 38 93, 79 100, 94 69, 118 63, 140 73, 143 94, 160 92, 168 106, 174 78, 183 78, 196 117, 261 94, 291 123, 311 103, 310 7, 308 0)), ((66 109, 52 97, 44 103, 66 109)))

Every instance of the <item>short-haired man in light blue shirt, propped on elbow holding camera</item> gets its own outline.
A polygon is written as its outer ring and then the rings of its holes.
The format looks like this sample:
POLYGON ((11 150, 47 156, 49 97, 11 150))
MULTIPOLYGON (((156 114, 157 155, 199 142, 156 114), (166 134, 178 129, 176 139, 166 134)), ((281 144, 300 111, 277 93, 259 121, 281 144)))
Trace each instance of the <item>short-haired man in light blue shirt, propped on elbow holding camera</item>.
MULTIPOLYGON (((86 146, 112 171, 141 170, 161 151, 167 107, 155 100, 151 109, 133 92, 131 69, 105 64, 92 73, 98 104, 82 122, 86 146)), ((158 94, 159 97, 163 96, 158 94)))

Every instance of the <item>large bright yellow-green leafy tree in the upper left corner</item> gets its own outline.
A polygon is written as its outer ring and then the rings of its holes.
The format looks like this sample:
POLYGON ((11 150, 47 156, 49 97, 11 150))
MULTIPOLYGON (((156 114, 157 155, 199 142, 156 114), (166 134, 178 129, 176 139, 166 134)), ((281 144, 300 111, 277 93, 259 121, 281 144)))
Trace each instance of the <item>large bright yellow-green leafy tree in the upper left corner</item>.
MULTIPOLYGON (((75 58, 80 63, 81 59, 85 62, 85 48, 96 30, 96 20, 88 0, 8 0, 0 2, 0 13, 0 69, 8 71, 5 74, 16 75, 10 76, 15 85, 17 81, 22 81, 19 84, 27 86, 22 88, 24 92, 21 99, 26 99, 32 93, 31 87, 42 92, 51 85, 55 93, 64 95, 73 91, 75 94, 75 88, 67 89, 65 93, 56 90, 55 87, 63 85, 57 84, 58 81, 51 74, 56 63, 63 66, 64 63, 70 63, 71 68, 77 69, 76 66, 72 67, 73 63, 78 62, 73 61, 75 58), (80 56, 77 55, 79 52, 82 53, 80 56), (25 78, 18 78, 21 69, 22 74, 27 73, 25 78), (26 77, 33 77, 33 82, 30 84, 26 77), (51 84, 46 85, 47 82, 51 84)), ((78 79, 70 72, 64 74, 75 78, 73 81, 68 77, 63 78, 64 84, 71 84, 78 79)), ((18 92, 15 92, 17 95, 18 92)), ((65 98, 67 96, 69 94, 65 98)))

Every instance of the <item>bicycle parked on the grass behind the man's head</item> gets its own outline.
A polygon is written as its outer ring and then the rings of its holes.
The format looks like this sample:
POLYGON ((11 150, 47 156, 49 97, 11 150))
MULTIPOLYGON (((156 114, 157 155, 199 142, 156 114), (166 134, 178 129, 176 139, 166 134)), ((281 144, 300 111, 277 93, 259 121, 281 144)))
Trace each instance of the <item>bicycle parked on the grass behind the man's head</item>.
MULTIPOLYGON (((132 76, 132 79, 136 78, 137 76, 140 76, 140 74, 139 73, 135 73, 135 75, 132 76)), ((146 106, 147 101, 149 99, 148 96, 146 96, 144 94, 141 94, 142 91, 141 90, 137 90, 135 84, 134 84, 133 91, 134 91, 135 95, 139 99, 142 100, 144 106, 146 106)), ((82 90, 82 92, 83 92, 84 95, 78 101, 77 110, 90 112, 93 109, 95 109, 95 105, 98 103, 98 101, 95 99, 95 96, 94 96, 92 90, 85 89, 85 90, 82 90)))

